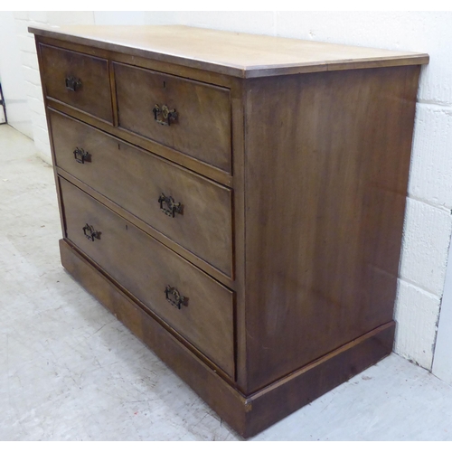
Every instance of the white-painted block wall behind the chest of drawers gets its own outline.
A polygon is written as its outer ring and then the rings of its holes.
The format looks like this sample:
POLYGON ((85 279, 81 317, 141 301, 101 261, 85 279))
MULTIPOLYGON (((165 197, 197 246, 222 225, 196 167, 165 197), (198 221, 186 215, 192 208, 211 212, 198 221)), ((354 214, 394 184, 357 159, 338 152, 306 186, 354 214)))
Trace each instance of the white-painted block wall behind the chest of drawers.
POLYGON ((20 13, 33 135, 50 160, 28 24, 187 24, 245 33, 428 52, 421 73, 409 199, 400 262, 395 351, 431 369, 452 231, 452 13, 89 12, 20 13))

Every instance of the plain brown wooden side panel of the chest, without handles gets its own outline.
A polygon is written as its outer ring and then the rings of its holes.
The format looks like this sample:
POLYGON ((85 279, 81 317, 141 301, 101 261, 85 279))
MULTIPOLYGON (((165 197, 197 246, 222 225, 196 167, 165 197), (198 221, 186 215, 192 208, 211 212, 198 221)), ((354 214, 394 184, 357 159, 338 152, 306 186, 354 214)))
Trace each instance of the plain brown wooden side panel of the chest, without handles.
POLYGON ((248 81, 248 391, 391 321, 418 77, 248 81))

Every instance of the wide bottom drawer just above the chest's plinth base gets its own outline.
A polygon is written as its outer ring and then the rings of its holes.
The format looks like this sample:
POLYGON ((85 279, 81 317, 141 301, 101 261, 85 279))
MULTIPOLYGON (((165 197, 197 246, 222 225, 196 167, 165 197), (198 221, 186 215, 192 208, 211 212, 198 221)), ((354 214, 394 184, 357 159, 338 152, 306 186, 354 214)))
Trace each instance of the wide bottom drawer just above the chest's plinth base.
POLYGON ((232 376, 231 290, 66 180, 60 186, 67 239, 232 376))

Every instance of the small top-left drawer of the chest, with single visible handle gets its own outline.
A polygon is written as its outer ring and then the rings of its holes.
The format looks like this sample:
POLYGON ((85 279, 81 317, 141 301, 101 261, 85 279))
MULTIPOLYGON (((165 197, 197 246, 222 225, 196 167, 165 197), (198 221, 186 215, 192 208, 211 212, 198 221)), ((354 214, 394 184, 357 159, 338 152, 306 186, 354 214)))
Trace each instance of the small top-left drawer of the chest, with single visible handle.
POLYGON ((112 124, 108 61, 44 44, 40 48, 46 95, 112 124))

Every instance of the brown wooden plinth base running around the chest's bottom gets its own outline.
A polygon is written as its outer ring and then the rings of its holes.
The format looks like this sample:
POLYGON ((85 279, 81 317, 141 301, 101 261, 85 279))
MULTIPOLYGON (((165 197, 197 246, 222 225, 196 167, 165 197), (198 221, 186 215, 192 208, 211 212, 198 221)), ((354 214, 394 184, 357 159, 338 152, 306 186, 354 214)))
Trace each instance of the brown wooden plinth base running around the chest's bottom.
POLYGON ((179 375, 212 410, 243 438, 250 438, 391 353, 390 322, 328 353, 249 396, 244 396, 173 334, 127 297, 67 241, 60 240, 61 263, 91 295, 179 375))

